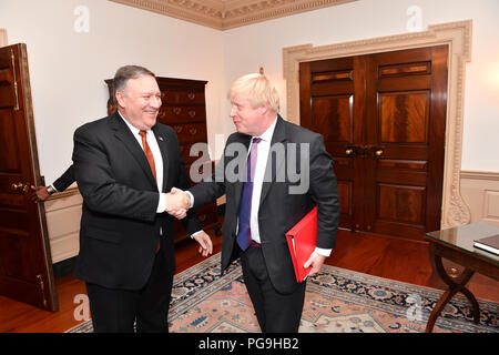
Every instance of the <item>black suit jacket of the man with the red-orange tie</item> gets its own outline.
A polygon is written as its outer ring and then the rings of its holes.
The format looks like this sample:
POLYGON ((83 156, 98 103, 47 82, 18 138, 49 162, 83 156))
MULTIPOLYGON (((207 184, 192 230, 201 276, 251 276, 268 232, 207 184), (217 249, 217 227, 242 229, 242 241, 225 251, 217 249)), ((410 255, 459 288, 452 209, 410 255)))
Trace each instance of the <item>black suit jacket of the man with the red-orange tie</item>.
MULTIPOLYGON (((163 156, 163 192, 190 183, 176 133, 156 123, 152 131, 163 156)), ((83 196, 80 254, 74 275, 109 288, 139 290, 151 274, 160 234, 174 272, 174 219, 156 213, 159 192, 145 154, 119 113, 74 133, 73 165, 83 196)), ((201 230, 190 213, 189 233, 201 230)))

